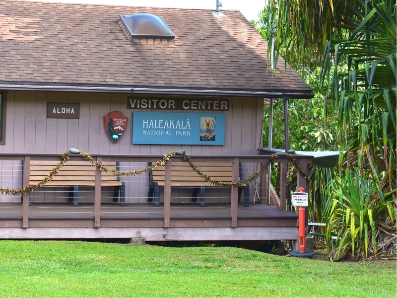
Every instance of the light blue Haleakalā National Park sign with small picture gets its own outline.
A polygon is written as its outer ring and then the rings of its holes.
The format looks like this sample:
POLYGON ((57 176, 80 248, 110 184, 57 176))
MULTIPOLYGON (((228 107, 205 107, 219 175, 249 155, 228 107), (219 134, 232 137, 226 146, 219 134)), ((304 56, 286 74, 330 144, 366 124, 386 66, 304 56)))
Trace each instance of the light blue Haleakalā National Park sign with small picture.
POLYGON ((225 115, 133 112, 132 144, 224 145, 225 115))

